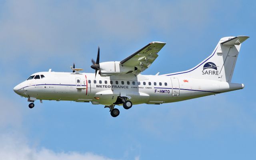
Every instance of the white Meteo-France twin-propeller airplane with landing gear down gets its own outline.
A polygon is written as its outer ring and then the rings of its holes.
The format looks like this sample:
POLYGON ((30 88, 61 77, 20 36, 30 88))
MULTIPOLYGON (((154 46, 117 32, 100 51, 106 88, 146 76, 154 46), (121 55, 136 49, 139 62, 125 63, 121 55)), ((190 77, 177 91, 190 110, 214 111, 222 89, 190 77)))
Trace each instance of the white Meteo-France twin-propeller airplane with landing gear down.
POLYGON ((248 36, 221 38, 212 54, 190 70, 159 75, 142 75, 164 47, 151 42, 122 61, 101 62, 100 48, 94 73, 71 67, 72 72, 37 72, 13 88, 16 94, 34 101, 66 100, 103 104, 110 115, 120 114, 115 106, 130 109, 135 104, 163 104, 215 95, 244 88, 231 83, 241 43, 248 36))

